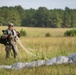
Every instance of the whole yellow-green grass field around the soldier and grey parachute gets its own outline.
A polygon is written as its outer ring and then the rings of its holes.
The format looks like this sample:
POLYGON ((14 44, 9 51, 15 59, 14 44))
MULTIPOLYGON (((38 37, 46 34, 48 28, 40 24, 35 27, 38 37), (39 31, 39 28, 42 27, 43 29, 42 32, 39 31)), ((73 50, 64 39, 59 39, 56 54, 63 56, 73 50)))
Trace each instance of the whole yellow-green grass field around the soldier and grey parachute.
MULTIPOLYGON (((0 27, 1 30, 7 27, 0 27)), ((28 27, 14 27, 16 30, 26 30, 27 36, 21 37, 24 46, 36 54, 35 56, 28 56, 26 52, 18 44, 19 55, 17 59, 13 58, 11 53, 9 59, 5 59, 4 45, 0 44, 0 65, 13 64, 16 62, 30 62, 38 59, 46 60, 57 56, 67 56, 76 52, 76 37, 64 37, 64 32, 69 28, 28 28, 28 27), (46 33, 50 33, 51 37, 45 37, 46 33), (30 49, 31 48, 31 49, 30 49)), ((76 75, 75 64, 62 64, 54 66, 42 66, 37 68, 22 70, 6 70, 0 69, 0 75, 76 75)))

